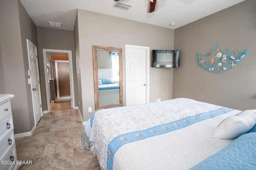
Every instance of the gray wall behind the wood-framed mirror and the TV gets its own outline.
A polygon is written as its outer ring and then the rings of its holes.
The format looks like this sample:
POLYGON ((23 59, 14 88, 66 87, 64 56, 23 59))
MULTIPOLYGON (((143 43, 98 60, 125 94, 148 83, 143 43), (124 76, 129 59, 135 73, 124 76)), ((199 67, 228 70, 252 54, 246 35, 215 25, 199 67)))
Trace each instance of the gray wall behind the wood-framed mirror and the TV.
MULTIPOLYGON (((150 47, 150 56, 152 49, 173 49, 174 47, 174 30, 172 29, 79 9, 74 33, 76 50, 80 47, 78 51, 81 89, 78 88, 78 94, 82 94, 82 96, 78 98, 83 99, 84 121, 87 121, 95 111, 92 45, 123 49, 124 104, 125 45, 150 47), (114 28, 112 23, 116 25, 114 28), (91 113, 88 112, 88 107, 92 107, 91 113)), ((174 68, 150 67, 150 102, 156 102, 157 98, 161 98, 161 100, 172 98, 173 70, 174 68)))

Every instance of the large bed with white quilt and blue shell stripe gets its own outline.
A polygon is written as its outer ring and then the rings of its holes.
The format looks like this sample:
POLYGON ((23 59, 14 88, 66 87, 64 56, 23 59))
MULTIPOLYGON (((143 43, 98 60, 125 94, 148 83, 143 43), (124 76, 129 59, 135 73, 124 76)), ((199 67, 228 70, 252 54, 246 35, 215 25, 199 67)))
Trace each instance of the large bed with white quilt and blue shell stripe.
MULTIPOLYGON (((248 125, 247 129, 236 125, 235 129, 230 129, 228 135, 234 133, 243 137, 246 134, 241 135, 241 129, 242 134, 253 129, 256 124, 256 112, 252 112, 249 116, 250 122, 245 123, 248 125)), ((246 113, 187 98, 177 98, 99 110, 86 122, 85 133, 92 143, 91 150, 97 155, 102 170, 201 169, 205 164, 200 166, 200 163, 209 161, 207 158, 222 152, 236 141, 236 138, 218 138, 218 135, 223 135, 220 133, 223 129, 216 130, 225 127, 226 121, 229 121, 229 126, 231 118, 247 116, 246 113)), ((247 119, 248 116, 246 121, 247 119)), ((250 152, 254 148, 254 152, 250 154, 250 158, 242 157, 248 159, 248 167, 255 169, 256 163, 251 162, 256 162, 256 133, 252 131, 250 134, 254 135, 255 142, 251 142, 252 146, 249 148, 250 152)), ((221 156, 217 157, 222 159, 221 156)), ((241 159, 239 156, 240 161, 241 159)), ((212 164, 206 162, 206 165, 212 164)), ((204 166, 205 168, 207 169, 204 166)))

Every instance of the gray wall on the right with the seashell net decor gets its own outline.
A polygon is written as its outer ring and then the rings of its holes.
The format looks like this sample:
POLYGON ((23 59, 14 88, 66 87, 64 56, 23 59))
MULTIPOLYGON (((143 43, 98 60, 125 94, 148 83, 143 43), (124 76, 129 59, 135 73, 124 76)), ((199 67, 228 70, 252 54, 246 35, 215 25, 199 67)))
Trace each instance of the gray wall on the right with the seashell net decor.
POLYGON ((174 48, 181 50, 174 69, 173 98, 192 98, 233 109, 256 106, 256 1, 246 0, 175 29, 174 48), (235 68, 222 74, 197 64, 196 52, 207 54, 219 43, 222 51, 249 49, 235 68))

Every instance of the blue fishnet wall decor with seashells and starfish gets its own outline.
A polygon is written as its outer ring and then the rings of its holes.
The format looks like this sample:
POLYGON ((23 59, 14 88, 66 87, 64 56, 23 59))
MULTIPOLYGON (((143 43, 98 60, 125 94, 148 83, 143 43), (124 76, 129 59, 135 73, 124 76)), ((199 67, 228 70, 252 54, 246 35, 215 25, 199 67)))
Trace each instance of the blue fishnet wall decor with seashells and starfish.
POLYGON ((242 60, 247 52, 248 50, 241 52, 238 49, 232 52, 228 47, 223 52, 217 42, 208 54, 202 55, 196 52, 196 56, 200 67, 209 72, 224 73, 236 67, 236 64, 242 60))

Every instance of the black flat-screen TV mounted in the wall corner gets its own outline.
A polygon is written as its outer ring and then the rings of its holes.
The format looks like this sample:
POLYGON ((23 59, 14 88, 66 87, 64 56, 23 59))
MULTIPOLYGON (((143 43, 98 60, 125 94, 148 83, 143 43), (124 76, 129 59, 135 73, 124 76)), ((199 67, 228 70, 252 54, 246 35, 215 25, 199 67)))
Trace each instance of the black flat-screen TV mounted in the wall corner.
POLYGON ((153 50, 152 67, 179 67, 180 50, 153 50))

